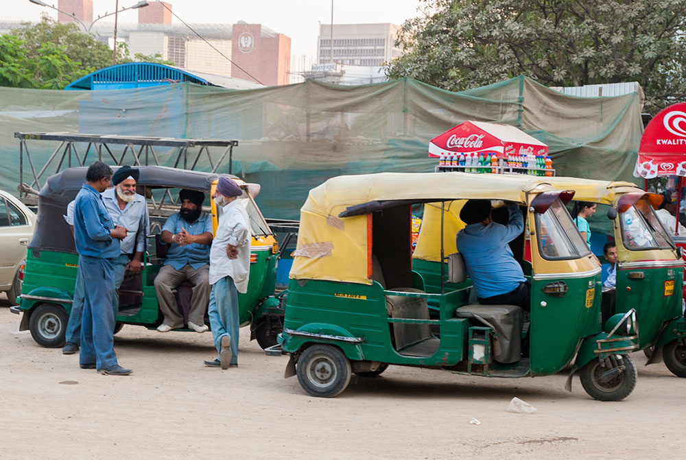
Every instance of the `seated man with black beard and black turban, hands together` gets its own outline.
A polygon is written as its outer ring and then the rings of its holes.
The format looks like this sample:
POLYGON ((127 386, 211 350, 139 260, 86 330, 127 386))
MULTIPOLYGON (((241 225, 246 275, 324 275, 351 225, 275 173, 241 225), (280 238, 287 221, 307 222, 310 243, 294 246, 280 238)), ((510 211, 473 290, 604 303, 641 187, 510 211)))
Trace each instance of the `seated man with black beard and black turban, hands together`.
POLYGON ((202 210, 205 195, 184 189, 178 193, 181 209, 167 218, 162 228, 162 241, 169 244, 164 266, 155 278, 155 291, 165 319, 157 330, 183 327, 174 290, 185 280, 193 284, 188 327, 205 332, 204 316, 209 303, 209 261, 212 243, 212 217, 202 210))

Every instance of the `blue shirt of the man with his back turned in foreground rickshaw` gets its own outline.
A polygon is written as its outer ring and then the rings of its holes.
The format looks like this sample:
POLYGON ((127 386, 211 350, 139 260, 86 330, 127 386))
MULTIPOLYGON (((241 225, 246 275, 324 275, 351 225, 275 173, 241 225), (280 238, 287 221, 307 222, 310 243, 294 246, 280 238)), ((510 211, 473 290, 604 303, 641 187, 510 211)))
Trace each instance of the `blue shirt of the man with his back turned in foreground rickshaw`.
POLYGON ((516 204, 509 204, 508 210, 507 225, 471 223, 456 237, 458 252, 482 299, 512 292, 526 280, 508 245, 524 231, 524 218, 516 204))

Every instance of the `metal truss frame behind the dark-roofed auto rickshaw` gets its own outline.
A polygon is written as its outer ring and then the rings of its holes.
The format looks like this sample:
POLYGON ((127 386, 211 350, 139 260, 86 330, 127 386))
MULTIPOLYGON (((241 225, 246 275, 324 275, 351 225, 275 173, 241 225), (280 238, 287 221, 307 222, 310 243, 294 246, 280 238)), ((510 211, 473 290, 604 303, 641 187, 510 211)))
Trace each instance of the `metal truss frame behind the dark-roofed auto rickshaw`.
MULTIPOLYGON (((212 173, 217 169, 228 155, 228 173, 231 174, 233 162, 233 147, 237 147, 238 141, 226 139, 182 139, 170 137, 144 137, 144 136, 116 136, 98 134, 71 134, 66 132, 15 132, 14 137, 19 139, 19 199, 23 202, 32 202, 29 195, 35 195, 36 191, 43 186, 41 179, 51 165, 57 165, 50 174, 58 173, 64 168, 75 166, 86 166, 86 161, 90 159, 103 161, 103 158, 111 158, 114 164, 121 166, 126 164, 124 159, 131 159, 132 166, 158 165, 160 160, 155 152, 155 147, 174 147, 178 152, 172 156, 174 159, 172 167, 180 169, 196 169, 198 160, 206 154, 212 173), (58 141, 60 145, 52 152, 45 162, 45 165, 36 172, 34 161, 31 158, 28 141, 58 141), (86 144, 80 154, 79 144, 86 144), (114 145, 123 146, 121 152, 114 145), (209 147, 224 147, 221 154, 215 156, 210 152, 209 147), (29 184, 24 181, 24 157, 30 169, 29 184), (189 167, 190 165, 190 167, 189 167)), ((48 174, 49 175, 49 174, 48 174)), ((47 178, 47 177, 46 177, 47 178)))

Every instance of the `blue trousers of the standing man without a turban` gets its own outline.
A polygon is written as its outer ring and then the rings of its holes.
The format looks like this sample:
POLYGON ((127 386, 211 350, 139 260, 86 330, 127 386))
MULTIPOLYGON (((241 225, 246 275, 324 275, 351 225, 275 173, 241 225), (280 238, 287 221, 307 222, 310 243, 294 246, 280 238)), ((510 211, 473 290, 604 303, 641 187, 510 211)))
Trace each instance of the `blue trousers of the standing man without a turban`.
POLYGON ((81 364, 95 363, 98 370, 117 365, 114 350, 115 311, 112 304, 115 289, 112 259, 79 256, 77 274, 84 289, 81 318, 81 364))

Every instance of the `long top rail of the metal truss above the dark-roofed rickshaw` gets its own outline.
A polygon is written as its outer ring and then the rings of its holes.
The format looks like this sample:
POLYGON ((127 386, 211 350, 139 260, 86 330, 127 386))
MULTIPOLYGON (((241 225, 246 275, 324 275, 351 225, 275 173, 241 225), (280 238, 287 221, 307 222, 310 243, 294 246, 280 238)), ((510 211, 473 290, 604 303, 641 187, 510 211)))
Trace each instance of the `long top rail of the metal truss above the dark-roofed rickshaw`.
POLYGON ((238 141, 230 139, 184 139, 174 137, 119 136, 117 134, 75 134, 70 132, 15 132, 14 137, 31 141, 153 145, 158 147, 236 147, 238 145, 238 141))

